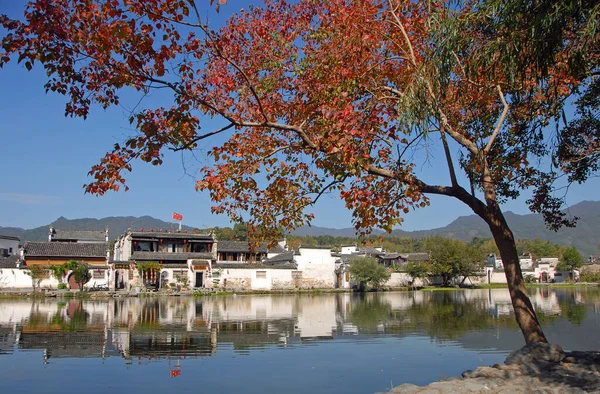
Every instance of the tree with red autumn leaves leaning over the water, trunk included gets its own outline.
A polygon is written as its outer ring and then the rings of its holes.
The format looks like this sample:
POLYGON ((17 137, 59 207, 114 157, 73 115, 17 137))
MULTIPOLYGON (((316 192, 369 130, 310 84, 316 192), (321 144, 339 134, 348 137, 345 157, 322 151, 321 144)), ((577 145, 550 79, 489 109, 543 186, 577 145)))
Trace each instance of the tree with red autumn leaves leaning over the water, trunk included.
MULTIPOLYGON (((551 194, 557 174, 538 163, 549 155, 546 126, 588 68, 572 72, 561 45, 547 51, 554 60, 544 74, 528 66, 543 58, 536 47, 506 56, 513 42, 537 42, 528 19, 537 14, 517 13, 530 2, 265 3, 213 31, 193 1, 38 0, 23 21, 0 20, 8 31, 0 66, 13 57, 27 69, 43 65, 46 89, 68 97, 69 116, 119 104, 126 87, 172 93, 172 106, 132 113, 139 134, 92 168, 90 193, 118 191, 136 159, 159 165, 165 149, 229 134, 197 188, 208 190, 213 212, 246 222, 250 238, 275 240, 310 223, 309 208, 332 191, 361 233, 391 231, 430 195, 463 202, 492 232, 525 341, 545 342, 500 205, 532 188, 532 209, 555 228, 572 224, 551 194), (223 127, 201 131, 202 116, 223 127), (424 146, 442 152, 447 184, 419 173, 428 159, 420 152, 432 151, 424 146)), ((559 10, 562 23, 551 26, 579 22, 559 10)))

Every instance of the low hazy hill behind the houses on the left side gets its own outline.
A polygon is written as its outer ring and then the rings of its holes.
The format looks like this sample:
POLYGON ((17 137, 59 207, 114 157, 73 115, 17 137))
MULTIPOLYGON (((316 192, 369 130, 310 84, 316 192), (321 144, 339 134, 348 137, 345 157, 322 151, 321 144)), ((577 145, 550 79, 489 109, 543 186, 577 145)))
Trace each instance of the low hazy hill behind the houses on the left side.
MULTIPOLYGON (((56 219, 54 222, 30 230, 25 230, 16 227, 0 227, 0 234, 11 235, 21 238, 21 242, 24 241, 47 241, 48 240, 48 228, 50 225, 57 229, 69 229, 69 230, 105 230, 109 229, 109 237, 111 240, 116 239, 127 229, 168 229, 168 228, 179 228, 178 225, 169 222, 164 222, 159 219, 155 219, 152 216, 114 216, 102 219, 67 219, 63 216, 56 219)), ((181 226, 183 230, 192 231, 194 227, 181 226)))

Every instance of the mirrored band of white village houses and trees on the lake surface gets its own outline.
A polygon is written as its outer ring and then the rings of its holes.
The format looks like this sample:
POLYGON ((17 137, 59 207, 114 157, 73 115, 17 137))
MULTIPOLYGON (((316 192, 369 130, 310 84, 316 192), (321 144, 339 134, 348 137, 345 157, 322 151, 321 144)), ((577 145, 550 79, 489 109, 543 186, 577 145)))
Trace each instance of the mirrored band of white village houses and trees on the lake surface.
MULTIPOLYGON (((600 322, 598 289, 532 293, 552 341, 567 349, 600 349, 597 339, 590 340, 600 322)), ((152 361, 214 356, 224 348, 249 354, 310 341, 415 335, 463 348, 511 350, 522 344, 502 289, 0 301, 0 356, 15 348, 39 350, 44 362, 63 357, 152 361)))

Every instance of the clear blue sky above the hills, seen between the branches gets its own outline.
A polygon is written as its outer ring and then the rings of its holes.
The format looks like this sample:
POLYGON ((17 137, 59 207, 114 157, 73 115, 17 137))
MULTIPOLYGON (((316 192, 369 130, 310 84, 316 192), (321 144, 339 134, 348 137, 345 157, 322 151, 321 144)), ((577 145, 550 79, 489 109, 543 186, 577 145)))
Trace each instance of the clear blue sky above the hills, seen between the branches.
MULTIPOLYGON (((206 1, 208 4, 208 1, 206 1)), ((234 11, 230 1, 215 23, 234 11)), ((0 0, 0 13, 21 14, 21 1, 0 0)), ((237 6, 239 9, 239 5, 237 6)), ((0 30, 0 36, 2 35, 0 30)), ((194 190, 197 168, 205 163, 203 150, 196 158, 171 153, 161 167, 135 163, 127 179, 130 191, 109 193, 102 197, 84 194, 83 185, 90 179, 87 173, 100 157, 116 142, 133 134, 127 121, 133 98, 122 107, 107 111, 94 108, 87 120, 65 118, 65 98, 45 94, 45 74, 40 67, 27 72, 24 66, 12 62, 0 69, 0 226, 32 228, 50 223, 59 216, 69 219, 106 216, 150 215, 170 220, 177 211, 184 224, 197 227, 230 226, 225 216, 210 213, 207 193, 194 190), (185 168, 184 164, 185 163, 185 168)), ((167 98, 153 95, 144 105, 164 102, 167 98)), ((208 129, 217 122, 203 120, 208 129)), ((204 143, 204 150, 211 142, 204 143)), ((432 152, 439 157, 441 152, 432 152)), ((435 160, 424 163, 425 181, 447 183, 443 166, 435 160)), ((574 186, 568 203, 597 200, 598 180, 574 186)), ((526 198, 511 201, 505 210, 527 213, 526 198)), ((351 215, 337 195, 324 196, 314 207, 314 225, 343 228, 351 226, 351 215)), ((445 197, 433 197, 431 206, 409 213, 402 226, 417 230, 447 225, 470 210, 462 203, 445 197)))

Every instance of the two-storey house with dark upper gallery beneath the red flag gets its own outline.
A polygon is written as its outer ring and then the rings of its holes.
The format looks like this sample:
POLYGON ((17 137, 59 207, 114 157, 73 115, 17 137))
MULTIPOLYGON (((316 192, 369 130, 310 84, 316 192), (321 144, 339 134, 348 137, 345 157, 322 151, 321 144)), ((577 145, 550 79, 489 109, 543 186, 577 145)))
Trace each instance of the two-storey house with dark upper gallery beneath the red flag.
POLYGON ((217 240, 212 233, 128 230, 115 241, 110 287, 210 287, 216 258, 217 240), (134 265, 144 264, 151 268, 140 275, 134 265))

